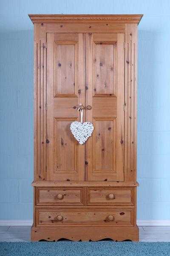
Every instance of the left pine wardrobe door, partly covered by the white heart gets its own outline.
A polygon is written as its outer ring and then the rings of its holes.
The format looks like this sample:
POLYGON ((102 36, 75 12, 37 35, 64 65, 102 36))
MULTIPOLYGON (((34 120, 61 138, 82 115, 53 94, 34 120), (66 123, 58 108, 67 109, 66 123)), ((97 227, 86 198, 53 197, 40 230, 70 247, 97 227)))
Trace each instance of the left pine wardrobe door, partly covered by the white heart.
POLYGON ((47 180, 85 180, 85 145, 70 125, 85 105, 85 34, 47 33, 47 180))

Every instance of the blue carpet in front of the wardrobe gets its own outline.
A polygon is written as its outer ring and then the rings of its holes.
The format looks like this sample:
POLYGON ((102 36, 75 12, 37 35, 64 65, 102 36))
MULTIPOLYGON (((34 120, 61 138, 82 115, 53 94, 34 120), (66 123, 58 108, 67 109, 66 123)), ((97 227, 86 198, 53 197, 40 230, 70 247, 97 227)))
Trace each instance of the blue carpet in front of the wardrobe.
POLYGON ((0 242, 0 256, 167 256, 170 243, 0 242))

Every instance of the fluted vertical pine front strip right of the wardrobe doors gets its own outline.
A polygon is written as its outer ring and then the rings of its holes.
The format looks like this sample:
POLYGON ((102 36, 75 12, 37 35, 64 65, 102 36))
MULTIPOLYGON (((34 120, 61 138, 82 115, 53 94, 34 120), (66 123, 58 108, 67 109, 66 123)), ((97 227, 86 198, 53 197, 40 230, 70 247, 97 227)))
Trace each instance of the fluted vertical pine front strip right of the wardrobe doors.
POLYGON ((136 180, 137 128, 137 26, 126 25, 125 47, 125 172, 126 181, 136 180))

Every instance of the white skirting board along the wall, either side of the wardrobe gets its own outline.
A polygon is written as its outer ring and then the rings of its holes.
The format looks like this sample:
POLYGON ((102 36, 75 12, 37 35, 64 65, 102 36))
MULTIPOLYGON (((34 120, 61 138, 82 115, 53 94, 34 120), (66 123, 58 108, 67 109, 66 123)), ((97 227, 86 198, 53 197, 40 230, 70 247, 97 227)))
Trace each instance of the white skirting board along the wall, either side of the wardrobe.
MULTIPOLYGON (((32 220, 0 220, 0 226, 32 226, 32 220)), ((138 226, 170 226, 170 220, 137 220, 138 226)))

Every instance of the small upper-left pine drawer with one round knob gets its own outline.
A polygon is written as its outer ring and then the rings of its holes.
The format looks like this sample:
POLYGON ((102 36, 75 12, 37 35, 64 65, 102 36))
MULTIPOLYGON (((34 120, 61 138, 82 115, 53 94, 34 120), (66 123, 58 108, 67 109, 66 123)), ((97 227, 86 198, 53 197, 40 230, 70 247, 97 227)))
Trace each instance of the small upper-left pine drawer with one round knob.
POLYGON ((37 188, 37 205, 83 205, 84 188, 37 188))

